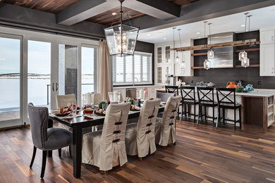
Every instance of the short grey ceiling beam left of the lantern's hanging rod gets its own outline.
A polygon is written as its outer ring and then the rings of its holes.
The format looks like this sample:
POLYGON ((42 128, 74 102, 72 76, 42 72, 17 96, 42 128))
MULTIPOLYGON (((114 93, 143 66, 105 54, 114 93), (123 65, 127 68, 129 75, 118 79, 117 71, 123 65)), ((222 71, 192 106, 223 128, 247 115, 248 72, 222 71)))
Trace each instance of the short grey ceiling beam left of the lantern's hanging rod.
POLYGON ((56 15, 61 25, 74 25, 119 6, 118 0, 82 0, 56 15))

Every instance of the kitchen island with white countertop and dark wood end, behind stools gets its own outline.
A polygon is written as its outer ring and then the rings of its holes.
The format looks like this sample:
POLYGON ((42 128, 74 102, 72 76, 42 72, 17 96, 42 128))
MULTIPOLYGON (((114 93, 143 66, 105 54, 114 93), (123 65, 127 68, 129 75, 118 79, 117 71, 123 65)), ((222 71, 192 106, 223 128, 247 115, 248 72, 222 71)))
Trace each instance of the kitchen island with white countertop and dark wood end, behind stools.
MULTIPOLYGON (((157 92, 165 92, 165 89, 157 89, 157 92)), ((180 90, 178 92, 181 94, 180 90)), ((267 132, 268 127, 274 122, 274 96, 275 91, 264 89, 255 89, 255 91, 247 93, 236 93, 236 102, 242 106, 242 130, 267 132)), ((195 97, 197 98, 197 94, 195 97)), ((214 97, 214 100, 216 100, 216 91, 214 97)), ((230 97, 233 99, 233 94, 230 97)), ((193 113, 193 111, 194 106, 191 106, 190 112, 193 113)), ((207 115, 212 115, 212 110, 207 110, 206 112, 207 115)), ((217 115, 217 109, 214 115, 217 115)), ((226 110, 225 117, 233 120, 233 110, 226 110)))

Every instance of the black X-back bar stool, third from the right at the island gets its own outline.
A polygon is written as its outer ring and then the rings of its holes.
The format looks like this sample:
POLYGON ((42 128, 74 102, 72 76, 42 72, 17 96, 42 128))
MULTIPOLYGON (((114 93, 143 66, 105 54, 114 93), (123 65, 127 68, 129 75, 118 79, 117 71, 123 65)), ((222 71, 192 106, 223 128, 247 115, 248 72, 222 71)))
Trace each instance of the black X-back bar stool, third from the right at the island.
POLYGON ((196 106, 199 104, 199 101, 196 101, 195 97, 195 87, 181 87, 181 100, 183 107, 181 108, 181 120, 183 119, 183 113, 186 118, 186 115, 193 115, 194 122, 196 121, 196 106), (188 111, 186 110, 186 106, 188 111), (194 106, 194 114, 190 113, 190 106, 194 106))

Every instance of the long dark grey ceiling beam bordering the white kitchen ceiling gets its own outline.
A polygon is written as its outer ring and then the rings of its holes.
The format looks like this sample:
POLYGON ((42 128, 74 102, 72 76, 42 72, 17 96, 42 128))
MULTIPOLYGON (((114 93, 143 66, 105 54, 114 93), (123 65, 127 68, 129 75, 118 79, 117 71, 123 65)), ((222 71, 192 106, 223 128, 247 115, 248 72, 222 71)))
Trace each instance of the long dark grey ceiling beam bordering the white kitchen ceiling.
POLYGON ((161 20, 148 15, 131 20, 131 23, 140 26, 140 32, 149 32, 273 5, 274 0, 201 0, 181 6, 179 18, 161 20))

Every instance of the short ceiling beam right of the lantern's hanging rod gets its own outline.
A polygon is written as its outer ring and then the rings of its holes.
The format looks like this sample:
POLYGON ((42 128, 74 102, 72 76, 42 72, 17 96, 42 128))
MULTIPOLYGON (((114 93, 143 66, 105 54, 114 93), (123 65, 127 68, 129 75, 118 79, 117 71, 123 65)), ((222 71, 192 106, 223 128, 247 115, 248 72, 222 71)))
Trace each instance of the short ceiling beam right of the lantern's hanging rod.
POLYGON ((126 0, 123 6, 163 20, 178 18, 181 15, 181 6, 166 0, 126 0))

